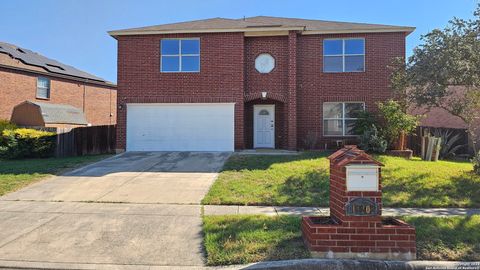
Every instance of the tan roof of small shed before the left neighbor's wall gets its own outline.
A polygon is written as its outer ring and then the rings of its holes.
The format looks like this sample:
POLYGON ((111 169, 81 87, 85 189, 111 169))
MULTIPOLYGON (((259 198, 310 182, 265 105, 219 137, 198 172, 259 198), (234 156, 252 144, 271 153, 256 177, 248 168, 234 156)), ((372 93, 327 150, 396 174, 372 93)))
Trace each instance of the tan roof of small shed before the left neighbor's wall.
POLYGON ((17 106, 25 105, 38 107, 45 124, 88 124, 82 110, 71 105, 25 101, 17 106))

